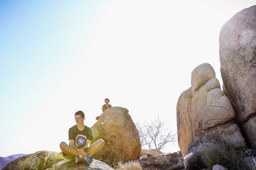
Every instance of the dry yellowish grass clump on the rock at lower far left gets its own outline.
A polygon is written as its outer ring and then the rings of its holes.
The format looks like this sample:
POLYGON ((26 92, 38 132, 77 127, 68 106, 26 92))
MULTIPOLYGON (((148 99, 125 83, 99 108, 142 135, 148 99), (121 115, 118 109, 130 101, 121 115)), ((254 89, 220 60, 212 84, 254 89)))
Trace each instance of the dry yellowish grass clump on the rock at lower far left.
POLYGON ((28 155, 25 159, 18 162, 16 168, 18 170, 38 170, 39 163, 40 160, 35 155, 28 155))

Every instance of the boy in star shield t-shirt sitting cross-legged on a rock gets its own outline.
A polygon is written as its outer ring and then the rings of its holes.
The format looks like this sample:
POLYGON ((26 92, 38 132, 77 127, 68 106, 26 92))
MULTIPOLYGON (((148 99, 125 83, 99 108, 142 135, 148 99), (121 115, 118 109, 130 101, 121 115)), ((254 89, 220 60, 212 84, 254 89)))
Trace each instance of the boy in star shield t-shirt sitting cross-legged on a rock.
POLYGON ((75 113, 76 125, 68 130, 69 145, 61 142, 60 149, 64 158, 75 159, 76 164, 85 161, 88 165, 91 165, 93 159, 90 156, 100 150, 104 145, 104 141, 98 139, 89 146, 90 141, 94 140, 94 138, 92 129, 84 125, 84 119, 83 111, 75 113))

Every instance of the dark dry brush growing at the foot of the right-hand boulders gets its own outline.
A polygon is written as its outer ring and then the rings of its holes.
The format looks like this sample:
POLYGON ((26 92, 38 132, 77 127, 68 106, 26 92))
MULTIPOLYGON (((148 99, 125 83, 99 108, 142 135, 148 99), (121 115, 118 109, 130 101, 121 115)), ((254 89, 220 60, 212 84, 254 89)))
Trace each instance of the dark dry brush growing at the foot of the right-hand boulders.
MULTIPOLYGON (((203 142, 200 139, 191 142, 188 151, 199 143, 203 142)), ((209 148, 204 149, 200 155, 203 160, 201 164, 204 165, 198 166, 212 169, 214 165, 222 165, 230 170, 256 170, 255 167, 244 161, 245 157, 253 157, 256 154, 256 150, 249 149, 245 143, 237 147, 227 144, 216 135, 210 136, 204 143, 212 143, 215 145, 209 145, 209 148)), ((198 162, 195 162, 195 164, 198 164, 198 162)))

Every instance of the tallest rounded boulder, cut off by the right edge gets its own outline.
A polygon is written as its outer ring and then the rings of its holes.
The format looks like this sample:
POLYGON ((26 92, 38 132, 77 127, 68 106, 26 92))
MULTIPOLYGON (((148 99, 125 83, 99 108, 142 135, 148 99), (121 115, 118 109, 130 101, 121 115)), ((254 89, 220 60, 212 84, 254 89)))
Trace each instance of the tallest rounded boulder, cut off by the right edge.
POLYGON ((220 72, 240 126, 256 115, 256 5, 220 30, 220 72))

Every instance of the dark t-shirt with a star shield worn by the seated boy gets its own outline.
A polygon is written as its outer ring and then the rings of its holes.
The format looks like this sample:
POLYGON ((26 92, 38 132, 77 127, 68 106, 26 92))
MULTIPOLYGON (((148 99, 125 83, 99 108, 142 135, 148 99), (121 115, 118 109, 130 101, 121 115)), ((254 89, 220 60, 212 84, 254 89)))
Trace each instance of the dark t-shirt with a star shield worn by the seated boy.
POLYGON ((86 139, 94 140, 92 129, 84 125, 84 130, 81 131, 75 125, 68 130, 68 140, 70 139, 75 141, 76 147, 82 148, 86 143, 86 139))

